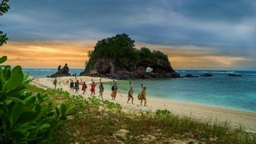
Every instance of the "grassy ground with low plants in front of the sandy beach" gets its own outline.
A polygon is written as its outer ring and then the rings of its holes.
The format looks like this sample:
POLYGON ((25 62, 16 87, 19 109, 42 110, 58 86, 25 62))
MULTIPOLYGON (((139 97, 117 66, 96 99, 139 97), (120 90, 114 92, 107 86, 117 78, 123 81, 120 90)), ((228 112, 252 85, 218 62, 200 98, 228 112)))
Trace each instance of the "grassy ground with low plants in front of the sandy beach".
POLYGON ((256 143, 256 134, 229 122, 202 121, 173 114, 170 110, 126 110, 118 103, 98 98, 82 98, 63 90, 43 90, 29 85, 34 92, 48 94, 55 105, 66 103, 76 113, 55 132, 57 143, 256 143))

